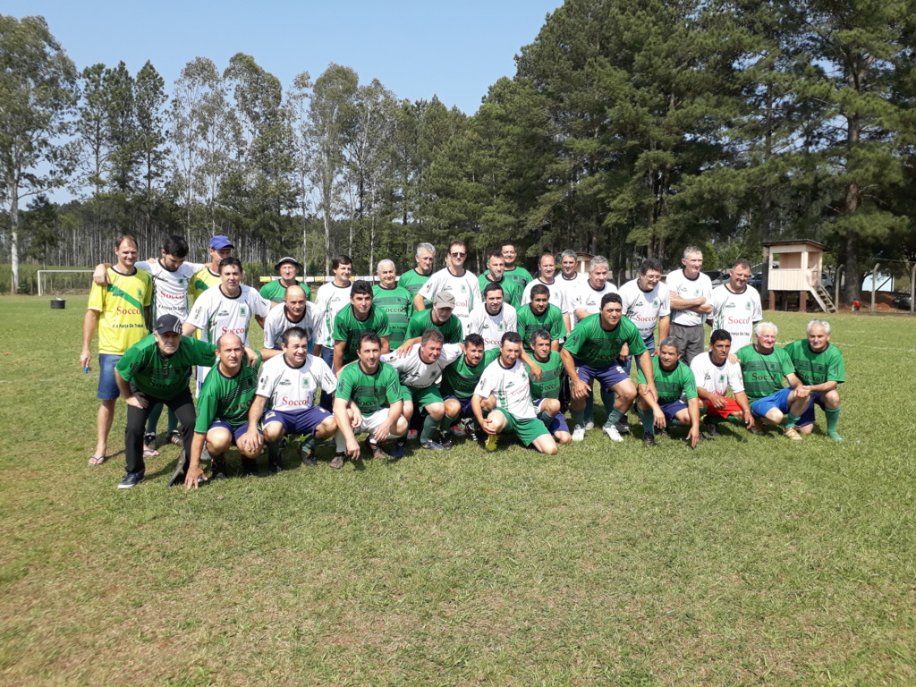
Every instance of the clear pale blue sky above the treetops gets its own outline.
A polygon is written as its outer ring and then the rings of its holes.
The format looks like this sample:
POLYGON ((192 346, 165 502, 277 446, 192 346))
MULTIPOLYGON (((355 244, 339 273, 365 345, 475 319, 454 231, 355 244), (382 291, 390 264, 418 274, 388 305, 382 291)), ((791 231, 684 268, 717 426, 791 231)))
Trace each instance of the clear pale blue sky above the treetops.
POLYGON ((241 51, 284 87, 301 71, 314 80, 337 62, 357 71, 361 83, 378 79, 400 98, 435 94, 473 114, 490 84, 515 74, 514 56, 559 5, 561 0, 6 0, 0 11, 44 16, 79 69, 125 60, 136 74, 151 60, 169 92, 195 57, 210 58, 222 70, 241 51))

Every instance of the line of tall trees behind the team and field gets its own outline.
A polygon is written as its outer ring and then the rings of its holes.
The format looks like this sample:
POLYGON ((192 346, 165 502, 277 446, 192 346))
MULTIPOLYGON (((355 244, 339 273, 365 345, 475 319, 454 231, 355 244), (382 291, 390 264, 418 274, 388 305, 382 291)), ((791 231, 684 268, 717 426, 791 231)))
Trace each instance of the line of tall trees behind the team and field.
POLYGON ((572 247, 623 280, 685 245, 716 268, 807 237, 853 300, 873 258, 916 259, 913 5, 567 0, 473 115, 337 64, 284 88, 244 53, 168 92, 151 62, 78 71, 41 17, 2 16, 0 250, 16 275, 91 265, 117 234, 183 234, 198 258, 227 234, 327 274, 452 238, 479 269, 512 239, 526 264, 572 247), (49 202, 61 187, 77 200, 49 202))

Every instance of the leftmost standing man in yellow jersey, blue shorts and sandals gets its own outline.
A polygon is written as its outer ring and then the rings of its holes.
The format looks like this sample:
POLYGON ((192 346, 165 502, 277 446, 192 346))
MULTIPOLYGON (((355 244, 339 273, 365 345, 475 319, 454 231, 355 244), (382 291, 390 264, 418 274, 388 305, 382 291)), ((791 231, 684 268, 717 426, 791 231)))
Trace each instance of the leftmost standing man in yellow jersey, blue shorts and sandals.
POLYGON ((93 283, 89 306, 82 321, 82 354, 80 366, 90 369, 93 335, 99 332, 99 387, 96 397, 102 401, 95 420, 95 450, 90 465, 105 462, 108 433, 114 420, 114 402, 120 395, 114 375, 127 349, 147 335, 149 304, 153 282, 136 268, 137 244, 133 236, 121 236, 114 242, 114 267, 106 270, 107 286, 93 283))

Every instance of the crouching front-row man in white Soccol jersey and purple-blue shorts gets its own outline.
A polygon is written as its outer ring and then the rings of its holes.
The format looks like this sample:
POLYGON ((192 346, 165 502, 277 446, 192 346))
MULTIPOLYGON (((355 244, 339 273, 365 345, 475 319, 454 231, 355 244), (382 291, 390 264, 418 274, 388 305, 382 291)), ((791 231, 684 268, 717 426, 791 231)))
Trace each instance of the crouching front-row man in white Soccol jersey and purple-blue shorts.
MULTIPOLYGON (((329 410, 315 405, 318 390, 332 393, 337 378, 319 357, 310 355, 309 335, 299 327, 283 334, 283 354, 261 366, 255 400, 248 410, 248 425, 264 427, 267 463, 272 472, 283 469, 280 442, 287 434, 305 437, 300 448, 303 465, 317 465, 312 455, 318 440, 330 439, 337 422, 329 410), (264 412, 270 401, 270 409, 264 412)), ((255 463, 242 463, 245 474, 256 474, 255 463)), ((344 467, 342 456, 335 455, 331 467, 344 467)))

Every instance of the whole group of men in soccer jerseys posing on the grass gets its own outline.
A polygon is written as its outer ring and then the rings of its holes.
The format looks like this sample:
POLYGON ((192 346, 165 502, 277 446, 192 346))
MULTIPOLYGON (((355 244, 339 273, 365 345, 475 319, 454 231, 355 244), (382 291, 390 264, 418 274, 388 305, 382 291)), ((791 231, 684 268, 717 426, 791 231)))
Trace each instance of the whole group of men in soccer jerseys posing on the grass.
MULTIPOLYGON (((420 447, 434 452, 468 434, 495 450, 507 433, 554 454, 558 443, 582 441, 594 428, 595 380, 612 442, 624 441, 631 409, 647 445, 682 425, 695 446, 725 421, 755 433, 761 424, 778 425, 799 441, 812 431, 814 404, 825 413, 828 434, 842 441, 837 387, 845 372, 829 323, 814 320, 806 339, 775 346, 776 327, 759 322, 747 261, 736 262, 729 281, 712 289, 702 252, 690 247, 683 268, 664 283, 660 262, 648 259, 638 278, 617 289, 602 256, 579 272, 578 256, 564 251, 558 275, 555 256, 545 253, 534 278, 507 243, 487 256, 478 278, 464 267, 462 241, 449 245, 438 271, 435 248, 420 244, 415 268, 398 279, 394 263, 382 260, 375 285, 352 281, 352 259, 335 256, 333 279, 311 302, 297 260, 282 258, 279 278, 258 293, 243 283, 232 248, 228 238, 214 236, 211 262, 192 265, 185 262, 187 244, 172 236, 158 260, 137 262, 136 241, 123 236, 116 263, 97 269, 81 356, 88 368, 98 329, 102 406, 90 464, 104 461, 121 396, 121 488, 142 481, 144 459, 158 455, 155 420, 163 405, 180 423, 184 446, 171 483, 183 480, 188 488, 206 478, 208 457, 211 476, 224 478, 233 445, 243 473, 257 472, 265 445, 268 468, 282 470, 281 447, 290 436, 302 438, 307 465, 316 464, 319 442, 333 441, 337 469, 359 458, 398 459, 414 432, 420 447), (265 332, 258 351, 247 345, 253 317, 265 332), (706 324, 713 332, 703 352, 706 324), (196 410, 189 390, 195 366, 196 410)), ((176 429, 170 423, 169 431, 176 429)))

